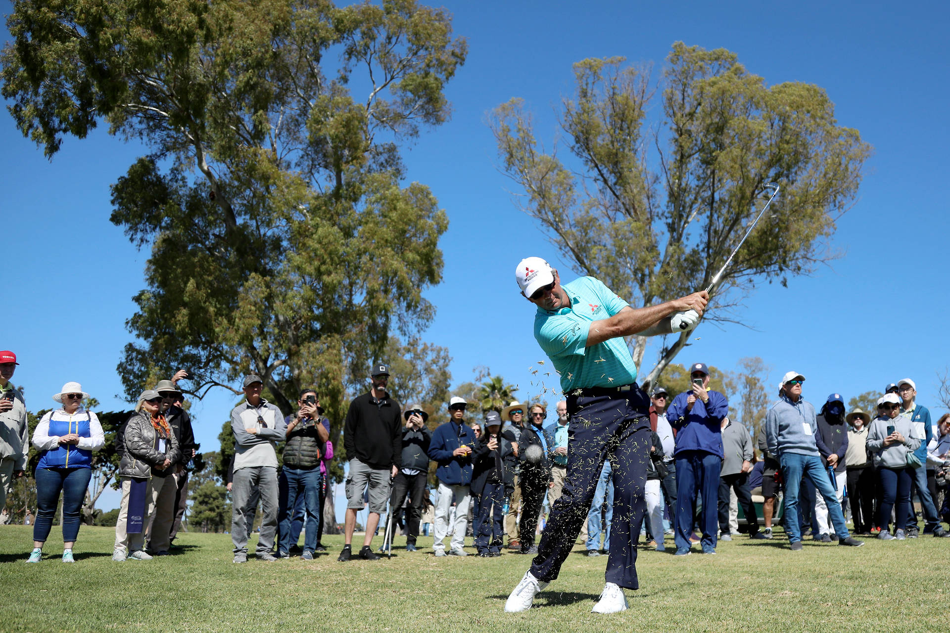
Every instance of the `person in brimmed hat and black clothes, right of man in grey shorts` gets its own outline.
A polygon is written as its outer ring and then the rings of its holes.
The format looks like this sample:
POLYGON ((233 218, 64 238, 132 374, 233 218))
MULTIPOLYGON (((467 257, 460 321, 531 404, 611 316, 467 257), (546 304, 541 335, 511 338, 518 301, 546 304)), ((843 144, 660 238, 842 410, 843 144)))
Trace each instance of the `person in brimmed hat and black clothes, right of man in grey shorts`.
MULTIPOLYGON (((403 427, 402 467, 392 480, 390 512, 399 512, 407 495, 409 496, 406 521, 406 530, 409 534, 406 537, 406 551, 415 551, 416 538, 419 536, 419 520, 422 518, 422 498, 426 493, 428 444, 432 440, 432 434, 426 428, 428 413, 422 410, 421 404, 410 404, 409 409, 403 413, 403 418, 406 419, 406 426, 403 427)), ((391 538, 392 536, 387 532, 383 543, 391 543, 391 538)), ((385 545, 381 546, 380 550, 385 547, 385 545)))

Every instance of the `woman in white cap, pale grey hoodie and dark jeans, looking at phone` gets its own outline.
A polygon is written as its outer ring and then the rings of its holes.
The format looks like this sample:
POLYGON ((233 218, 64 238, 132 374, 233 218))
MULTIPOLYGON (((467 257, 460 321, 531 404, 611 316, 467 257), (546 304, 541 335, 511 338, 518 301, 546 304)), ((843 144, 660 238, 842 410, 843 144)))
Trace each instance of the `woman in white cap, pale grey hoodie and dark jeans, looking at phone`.
POLYGON ((901 415, 901 400, 897 394, 887 394, 878 400, 878 417, 867 430, 867 450, 874 456, 874 465, 881 478, 882 500, 878 520, 883 541, 903 540, 910 513, 910 484, 914 472, 907 465, 907 454, 921 445, 920 438, 912 438, 910 419, 901 415), (895 533, 888 530, 891 510, 897 505, 894 516, 895 533))

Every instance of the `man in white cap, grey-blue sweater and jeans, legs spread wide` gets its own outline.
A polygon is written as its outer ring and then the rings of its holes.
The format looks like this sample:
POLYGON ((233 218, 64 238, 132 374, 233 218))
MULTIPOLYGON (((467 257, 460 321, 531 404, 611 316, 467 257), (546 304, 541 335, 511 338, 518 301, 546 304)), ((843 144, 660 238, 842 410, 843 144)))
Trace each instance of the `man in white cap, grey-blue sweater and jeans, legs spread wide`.
POLYGON ((815 407, 802 398, 805 377, 789 371, 782 378, 781 400, 766 414, 766 440, 769 453, 778 456, 785 482, 785 524, 788 543, 793 551, 802 549, 802 531, 798 521, 798 493, 802 477, 807 475, 818 493, 825 497, 828 515, 838 536, 838 545, 861 547, 864 541, 851 536, 845 525, 845 514, 837 502, 831 480, 822 465, 818 444, 815 407))

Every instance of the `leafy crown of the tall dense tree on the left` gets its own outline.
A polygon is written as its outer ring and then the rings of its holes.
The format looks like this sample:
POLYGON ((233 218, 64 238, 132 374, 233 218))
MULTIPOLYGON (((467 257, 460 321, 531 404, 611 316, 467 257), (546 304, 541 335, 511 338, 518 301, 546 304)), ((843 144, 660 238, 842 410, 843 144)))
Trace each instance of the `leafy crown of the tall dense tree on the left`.
POLYGON ((447 215, 401 149, 449 116, 466 43, 447 13, 24 0, 8 25, 3 95, 47 156, 99 122, 150 149, 112 188, 111 220, 150 250, 126 395, 179 367, 195 397, 238 393, 254 370, 285 414, 316 388, 337 444, 347 387, 434 312, 447 215))

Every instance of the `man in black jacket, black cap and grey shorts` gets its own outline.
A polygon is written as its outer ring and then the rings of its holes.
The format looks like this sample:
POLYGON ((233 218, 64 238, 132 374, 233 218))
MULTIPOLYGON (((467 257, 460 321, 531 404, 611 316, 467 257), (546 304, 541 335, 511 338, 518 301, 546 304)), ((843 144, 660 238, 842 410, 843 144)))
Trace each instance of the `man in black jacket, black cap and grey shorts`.
POLYGON ((346 545, 340 552, 340 561, 352 557, 353 531, 356 512, 363 510, 363 493, 370 488, 370 514, 366 519, 366 536, 359 555, 376 560, 379 555, 372 548, 372 536, 379 526, 379 515, 386 512, 390 499, 392 477, 402 467, 403 435, 399 418, 399 402, 390 398, 386 385, 390 368, 381 363, 372 366, 371 389, 350 403, 343 423, 343 446, 350 460, 347 473, 347 519, 344 528, 346 545))

